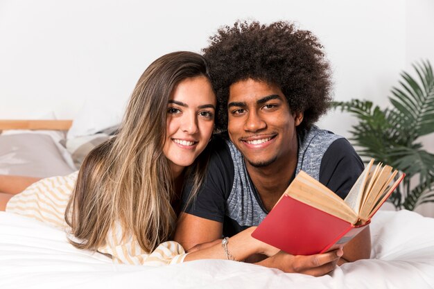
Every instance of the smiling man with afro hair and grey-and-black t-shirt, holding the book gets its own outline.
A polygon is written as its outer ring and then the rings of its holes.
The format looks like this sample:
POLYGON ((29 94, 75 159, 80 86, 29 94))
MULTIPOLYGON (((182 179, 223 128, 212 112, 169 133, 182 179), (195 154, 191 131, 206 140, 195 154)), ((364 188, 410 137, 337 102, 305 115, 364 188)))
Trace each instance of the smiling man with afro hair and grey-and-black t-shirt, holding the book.
MULTIPOLYGON (((327 111, 331 81, 322 46, 309 31, 287 22, 237 22, 211 40, 204 51, 220 105, 216 127, 227 135, 209 145, 198 195, 189 195, 188 186, 184 192, 175 240, 186 249, 259 225, 300 170, 341 198, 363 171, 346 139, 313 125, 327 111)), ((259 264, 281 268, 275 263, 281 254, 259 264)), ((367 228, 345 245, 340 263, 369 257, 367 228)), ((326 274, 334 260, 298 256, 285 270, 326 274)))

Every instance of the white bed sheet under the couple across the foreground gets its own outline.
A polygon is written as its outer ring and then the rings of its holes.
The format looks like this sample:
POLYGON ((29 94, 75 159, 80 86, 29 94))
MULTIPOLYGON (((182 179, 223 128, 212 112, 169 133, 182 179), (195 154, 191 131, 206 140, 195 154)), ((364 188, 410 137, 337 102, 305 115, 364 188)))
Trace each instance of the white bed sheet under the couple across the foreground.
POLYGON ((0 288, 434 288, 433 218, 379 211, 371 234, 372 259, 315 278, 224 260, 115 265, 58 229, 0 212, 0 288))

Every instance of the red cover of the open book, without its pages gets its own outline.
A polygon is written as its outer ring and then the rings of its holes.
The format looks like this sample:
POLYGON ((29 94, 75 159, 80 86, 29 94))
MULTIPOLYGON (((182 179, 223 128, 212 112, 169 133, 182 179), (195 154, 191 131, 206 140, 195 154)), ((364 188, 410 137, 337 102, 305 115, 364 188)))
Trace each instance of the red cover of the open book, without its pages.
POLYGON ((356 227, 284 195, 252 236, 289 254, 311 255, 344 245, 365 225, 356 227))

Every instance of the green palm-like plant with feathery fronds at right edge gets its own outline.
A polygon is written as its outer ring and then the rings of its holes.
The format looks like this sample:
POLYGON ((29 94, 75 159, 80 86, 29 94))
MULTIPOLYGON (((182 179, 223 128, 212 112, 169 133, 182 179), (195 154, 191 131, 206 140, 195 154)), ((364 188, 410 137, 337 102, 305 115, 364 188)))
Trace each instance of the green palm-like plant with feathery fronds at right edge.
POLYGON ((404 71, 399 86, 392 87, 388 108, 358 99, 333 103, 357 117, 350 141, 361 157, 374 157, 406 173, 389 201, 396 209, 412 211, 419 204, 434 202, 434 155, 424 150, 419 139, 434 132, 433 69, 428 61, 413 68, 415 78, 404 71))

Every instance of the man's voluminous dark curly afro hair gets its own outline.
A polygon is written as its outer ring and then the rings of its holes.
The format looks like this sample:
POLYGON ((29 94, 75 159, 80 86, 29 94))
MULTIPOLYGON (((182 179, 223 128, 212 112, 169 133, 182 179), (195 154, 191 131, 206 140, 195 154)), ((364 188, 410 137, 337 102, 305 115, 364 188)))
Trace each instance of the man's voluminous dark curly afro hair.
POLYGON ((229 87, 240 80, 277 85, 292 112, 304 112, 298 129, 310 128, 330 104, 331 73, 322 45, 287 21, 261 25, 236 21, 220 28, 203 49, 216 90, 216 129, 227 130, 229 87))

